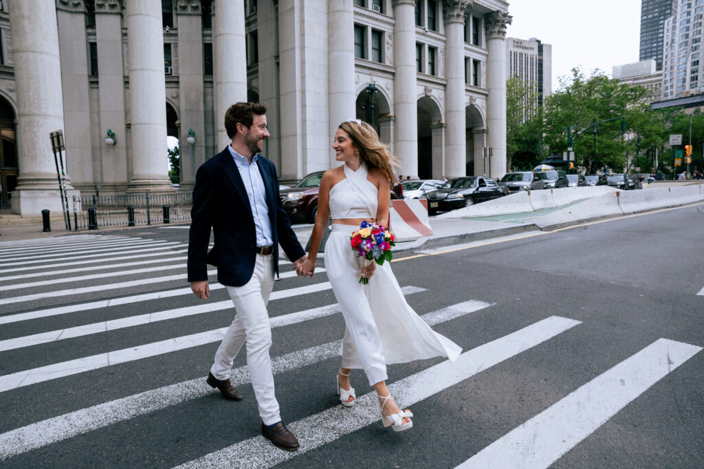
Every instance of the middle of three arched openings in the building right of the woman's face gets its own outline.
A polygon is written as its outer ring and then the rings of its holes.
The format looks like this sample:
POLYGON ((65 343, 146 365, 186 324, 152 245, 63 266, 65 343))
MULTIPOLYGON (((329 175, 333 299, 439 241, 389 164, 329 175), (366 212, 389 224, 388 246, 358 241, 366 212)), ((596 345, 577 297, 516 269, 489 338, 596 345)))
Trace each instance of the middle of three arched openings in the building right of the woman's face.
POLYGON ((418 100, 418 177, 443 176, 444 126, 439 105, 430 96, 418 100))

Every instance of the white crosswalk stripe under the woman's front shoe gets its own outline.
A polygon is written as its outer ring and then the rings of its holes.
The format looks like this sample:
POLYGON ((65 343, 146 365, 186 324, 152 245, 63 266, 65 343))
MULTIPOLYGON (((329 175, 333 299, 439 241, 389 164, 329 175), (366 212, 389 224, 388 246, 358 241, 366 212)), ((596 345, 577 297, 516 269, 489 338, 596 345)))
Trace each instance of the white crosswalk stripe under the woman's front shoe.
MULTIPOLYGON (((517 330, 460 355, 454 362, 443 361, 419 373, 389 385, 391 394, 401 409, 427 399, 467 378, 510 359, 541 342, 555 337, 565 330, 577 326, 580 321, 551 316, 530 326, 517 330)), ((261 468, 271 467, 294 458, 324 444, 334 442, 351 432, 371 423, 379 425, 377 393, 372 391, 357 398, 356 405, 343 409, 335 406, 294 423, 287 427, 296 435, 301 449, 298 451, 272 451, 271 443, 258 436, 206 454, 180 468, 261 468)))

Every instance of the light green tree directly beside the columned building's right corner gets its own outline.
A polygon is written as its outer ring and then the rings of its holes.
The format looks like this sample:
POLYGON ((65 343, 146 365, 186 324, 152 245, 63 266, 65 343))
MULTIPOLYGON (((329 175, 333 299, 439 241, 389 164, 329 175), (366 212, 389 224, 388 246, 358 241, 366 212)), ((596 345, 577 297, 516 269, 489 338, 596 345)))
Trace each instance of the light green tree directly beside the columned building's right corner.
POLYGON ((506 82, 506 169, 529 169, 543 159, 543 109, 534 83, 506 82))

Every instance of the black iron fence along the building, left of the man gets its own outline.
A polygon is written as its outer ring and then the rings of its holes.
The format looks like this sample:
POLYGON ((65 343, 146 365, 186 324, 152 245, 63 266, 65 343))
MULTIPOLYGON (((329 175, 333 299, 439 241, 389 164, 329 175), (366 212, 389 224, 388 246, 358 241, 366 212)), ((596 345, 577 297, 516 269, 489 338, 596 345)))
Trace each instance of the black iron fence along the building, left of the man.
POLYGON ((168 224, 191 219, 193 195, 134 194, 73 198, 73 229, 168 224))

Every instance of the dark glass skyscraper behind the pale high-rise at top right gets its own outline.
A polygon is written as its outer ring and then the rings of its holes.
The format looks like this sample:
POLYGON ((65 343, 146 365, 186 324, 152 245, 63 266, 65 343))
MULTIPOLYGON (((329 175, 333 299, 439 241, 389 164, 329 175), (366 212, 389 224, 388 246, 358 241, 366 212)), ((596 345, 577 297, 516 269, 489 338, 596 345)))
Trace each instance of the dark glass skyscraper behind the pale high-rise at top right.
POLYGON ((639 60, 655 60, 655 70, 662 70, 662 46, 665 20, 674 15, 677 0, 641 0, 641 53, 639 60))

